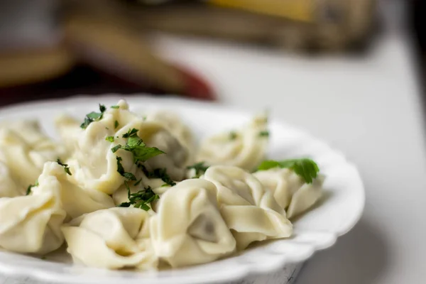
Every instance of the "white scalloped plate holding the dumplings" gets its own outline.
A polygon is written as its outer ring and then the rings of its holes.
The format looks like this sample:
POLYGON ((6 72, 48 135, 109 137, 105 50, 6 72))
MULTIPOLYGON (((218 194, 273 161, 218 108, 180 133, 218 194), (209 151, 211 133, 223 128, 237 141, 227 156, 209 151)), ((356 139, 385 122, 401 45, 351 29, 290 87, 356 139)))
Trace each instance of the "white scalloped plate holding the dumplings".
MULTIPOLYGON (((101 102, 116 104, 119 97, 79 97, 18 105, 0 110, 0 119, 40 119, 45 130, 55 136, 53 119, 63 111, 84 118, 101 102)), ((253 114, 224 109, 215 104, 175 98, 131 97, 131 109, 173 109, 195 130, 197 136, 244 124, 253 114)), ((364 209, 364 187, 356 167, 339 151, 329 148, 304 131, 271 120, 269 156, 274 159, 310 156, 320 165, 327 179, 321 204, 294 222, 290 239, 268 241, 239 256, 213 263, 170 271, 107 271, 97 268, 46 261, 31 256, 0 251, 0 273, 28 275, 39 280, 61 283, 221 283, 239 280, 253 273, 271 273, 286 263, 305 261, 317 250, 332 246, 338 236, 351 229, 364 209)))

